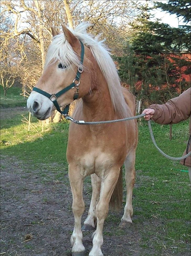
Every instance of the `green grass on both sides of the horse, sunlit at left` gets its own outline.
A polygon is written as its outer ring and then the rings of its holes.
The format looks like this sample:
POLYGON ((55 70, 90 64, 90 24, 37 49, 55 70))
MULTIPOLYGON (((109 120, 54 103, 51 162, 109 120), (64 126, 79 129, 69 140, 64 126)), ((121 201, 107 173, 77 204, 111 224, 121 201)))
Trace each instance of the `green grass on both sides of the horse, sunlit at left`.
MULTIPOLYGON (((40 182, 48 182, 51 176, 69 186, 66 162, 68 123, 45 126, 42 133, 41 122, 32 119, 35 128, 28 132, 27 124, 21 119, 17 114, 13 119, 2 120, 1 154, 22 160, 28 166, 26 172, 41 170, 40 182)), ((165 153, 182 155, 188 139, 188 121, 172 126, 172 141, 169 140, 168 125, 152 123, 152 128, 158 146, 165 153)), ((190 185, 188 173, 181 171, 187 171, 187 168, 166 159, 157 151, 144 121, 139 124, 135 169, 133 222, 134 229, 139 230, 141 235, 140 247, 148 252, 154 248, 156 255, 165 255, 163 252, 166 249, 180 253, 177 255, 189 252, 190 185)), ((91 192, 89 177, 85 183, 87 191, 91 192)), ((123 186, 125 191, 125 183, 123 186)), ((116 214, 110 213, 106 223, 113 223, 114 228, 104 231, 104 235, 125 235, 123 230, 117 228, 119 217, 116 214)))

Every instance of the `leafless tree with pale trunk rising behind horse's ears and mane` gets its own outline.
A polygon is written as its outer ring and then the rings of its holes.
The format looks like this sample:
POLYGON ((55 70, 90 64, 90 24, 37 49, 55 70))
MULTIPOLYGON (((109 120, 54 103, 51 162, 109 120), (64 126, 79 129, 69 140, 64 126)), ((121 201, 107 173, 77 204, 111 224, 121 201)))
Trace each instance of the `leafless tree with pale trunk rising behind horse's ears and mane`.
POLYGON ((91 22, 94 26, 89 28, 90 33, 95 36, 101 33, 100 39, 106 39, 106 44, 113 54, 123 53, 123 41, 129 34, 127 25, 136 11, 132 1, 64 0, 64 2, 70 27, 75 27, 82 21, 91 22))

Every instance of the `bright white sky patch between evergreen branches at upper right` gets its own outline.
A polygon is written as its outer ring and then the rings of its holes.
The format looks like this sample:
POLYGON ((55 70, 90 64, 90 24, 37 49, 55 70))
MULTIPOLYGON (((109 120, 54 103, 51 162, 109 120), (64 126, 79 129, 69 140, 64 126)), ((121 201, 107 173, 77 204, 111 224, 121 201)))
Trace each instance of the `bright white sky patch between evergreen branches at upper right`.
MULTIPOLYGON (((156 2, 163 2, 163 3, 167 3, 168 1, 166 0, 155 0, 156 2)), ((146 2, 146 0, 140 0, 138 1, 140 3, 146 2)), ((152 1, 148 2, 149 6, 152 6, 152 1)), ((155 21, 156 18, 161 19, 161 23, 167 23, 169 24, 171 27, 178 27, 178 18, 176 16, 176 14, 172 14, 170 15, 167 12, 161 11, 161 9, 155 9, 153 11, 151 11, 151 14, 154 15, 155 17, 151 19, 151 21, 155 21)), ((183 21, 181 20, 181 17, 179 17, 179 25, 185 25, 185 23, 183 23, 183 21)))

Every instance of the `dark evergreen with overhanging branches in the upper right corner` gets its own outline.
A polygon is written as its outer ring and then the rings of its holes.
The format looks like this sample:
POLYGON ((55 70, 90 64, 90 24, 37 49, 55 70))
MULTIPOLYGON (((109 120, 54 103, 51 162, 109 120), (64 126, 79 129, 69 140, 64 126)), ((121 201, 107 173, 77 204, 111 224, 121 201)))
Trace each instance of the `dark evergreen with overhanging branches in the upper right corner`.
POLYGON ((182 80, 182 67, 184 74, 190 74, 190 60, 181 58, 184 52, 191 52, 191 1, 187 0, 169 0, 167 3, 155 2, 154 8, 160 8, 162 11, 168 12, 170 15, 176 14, 178 21, 182 20, 185 25, 178 26, 178 28, 171 28, 167 24, 158 24, 157 22, 151 23, 155 26, 156 33, 162 37, 171 38, 171 42, 166 42, 165 49, 172 51, 177 57, 173 57, 174 64, 179 67, 179 93, 186 87, 190 86, 182 80), (161 26, 162 25, 162 26, 161 26), (166 30, 164 29, 166 27, 166 30))

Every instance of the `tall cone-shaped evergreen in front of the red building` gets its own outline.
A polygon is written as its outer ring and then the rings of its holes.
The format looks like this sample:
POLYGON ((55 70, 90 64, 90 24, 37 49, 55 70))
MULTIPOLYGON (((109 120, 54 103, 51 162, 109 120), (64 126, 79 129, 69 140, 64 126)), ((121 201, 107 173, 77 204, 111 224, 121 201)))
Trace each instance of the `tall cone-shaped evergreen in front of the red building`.
POLYGON ((168 89, 172 96, 172 85, 177 79, 177 69, 167 58, 165 50, 166 44, 171 45, 171 38, 155 32, 150 22, 150 9, 146 1, 144 6, 140 6, 137 19, 131 23, 134 32, 130 38, 130 45, 138 56, 136 74, 142 82, 139 97, 143 104, 166 101, 166 90, 168 89))

